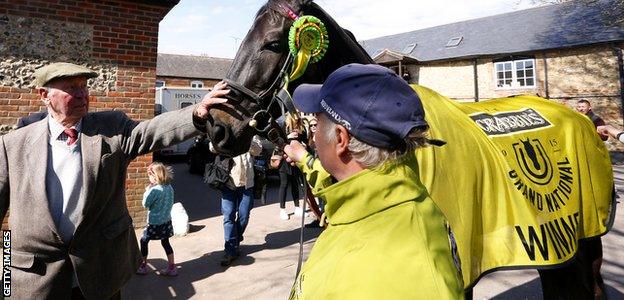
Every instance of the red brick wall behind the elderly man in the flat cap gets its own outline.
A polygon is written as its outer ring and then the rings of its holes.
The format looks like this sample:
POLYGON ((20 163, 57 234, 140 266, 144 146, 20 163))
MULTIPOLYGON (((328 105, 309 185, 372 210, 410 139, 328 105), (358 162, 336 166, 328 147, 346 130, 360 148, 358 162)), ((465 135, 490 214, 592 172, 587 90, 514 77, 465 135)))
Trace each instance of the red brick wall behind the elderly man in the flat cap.
MULTIPOLYGON (((0 47, 0 62, 4 63, 0 77, 15 74, 14 70, 21 70, 22 76, 0 81, 0 125, 15 124, 18 118, 43 109, 30 84, 31 74, 36 67, 54 61, 106 70, 89 82, 91 111, 115 109, 137 120, 152 118, 158 25, 172 8, 172 4, 159 2, 0 0, 0 35, 2 31, 3 38, 7 32, 19 33, 11 35, 14 46, 10 40, 0 41, 0 46, 3 42, 11 46, 0 47), (20 32, 24 27, 27 30, 20 32), (23 46, 30 40, 34 44, 23 46), (81 44, 66 45, 65 40, 81 44), (76 47, 80 51, 75 51, 76 47)), ((151 155, 146 155, 128 168, 126 196, 135 226, 145 223, 141 196, 148 183, 145 168, 149 163, 151 155)))

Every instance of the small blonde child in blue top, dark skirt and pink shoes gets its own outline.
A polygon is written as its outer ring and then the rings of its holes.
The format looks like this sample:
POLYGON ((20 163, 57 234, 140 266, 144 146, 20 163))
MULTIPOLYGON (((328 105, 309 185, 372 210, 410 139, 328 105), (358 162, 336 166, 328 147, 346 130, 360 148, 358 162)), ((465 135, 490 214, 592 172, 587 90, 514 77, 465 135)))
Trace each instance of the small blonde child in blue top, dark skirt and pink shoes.
POLYGON ((160 270, 161 275, 176 276, 176 269, 173 259, 173 248, 169 244, 169 238, 173 236, 173 226, 171 225, 171 207, 173 207, 173 172, 171 167, 155 162, 147 167, 147 175, 150 184, 145 187, 143 193, 143 206, 147 208, 147 226, 143 230, 141 237, 141 254, 143 260, 137 270, 137 274, 147 274, 147 244, 150 240, 160 240, 169 266, 160 270))

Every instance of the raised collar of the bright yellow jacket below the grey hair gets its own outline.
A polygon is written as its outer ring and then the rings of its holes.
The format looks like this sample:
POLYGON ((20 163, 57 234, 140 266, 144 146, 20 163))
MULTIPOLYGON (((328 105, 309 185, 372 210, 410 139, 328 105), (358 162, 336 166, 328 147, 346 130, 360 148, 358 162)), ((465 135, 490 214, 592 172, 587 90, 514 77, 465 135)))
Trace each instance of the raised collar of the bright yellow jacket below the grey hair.
POLYGON ((361 171, 317 193, 330 224, 352 223, 392 206, 428 196, 414 153, 361 171))

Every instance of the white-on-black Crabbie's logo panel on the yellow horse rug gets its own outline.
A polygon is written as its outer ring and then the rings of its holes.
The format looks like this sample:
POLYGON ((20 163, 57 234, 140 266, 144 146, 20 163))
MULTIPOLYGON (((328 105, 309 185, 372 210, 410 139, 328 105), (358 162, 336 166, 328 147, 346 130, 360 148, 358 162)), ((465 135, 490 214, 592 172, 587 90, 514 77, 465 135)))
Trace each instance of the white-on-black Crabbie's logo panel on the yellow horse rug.
POLYGON ((531 108, 497 114, 479 113, 470 118, 490 136, 551 126, 544 116, 531 108))

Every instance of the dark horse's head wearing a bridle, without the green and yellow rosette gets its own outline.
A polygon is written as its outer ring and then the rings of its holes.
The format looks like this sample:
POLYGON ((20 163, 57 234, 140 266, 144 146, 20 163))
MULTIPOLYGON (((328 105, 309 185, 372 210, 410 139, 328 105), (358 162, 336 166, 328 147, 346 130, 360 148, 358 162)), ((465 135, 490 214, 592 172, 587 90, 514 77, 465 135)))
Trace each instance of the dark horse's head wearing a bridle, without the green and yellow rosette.
POLYGON ((282 87, 283 75, 291 71, 288 33, 302 15, 313 15, 325 24, 329 48, 321 61, 310 64, 302 77, 289 84, 289 90, 302 82, 322 83, 342 65, 373 62, 353 35, 312 1, 269 0, 256 14, 226 75, 231 90, 228 102, 210 110, 207 133, 219 153, 233 156, 248 151, 257 134, 249 126, 256 112, 266 110, 274 118, 281 114, 280 106, 273 105, 272 99, 282 87))

